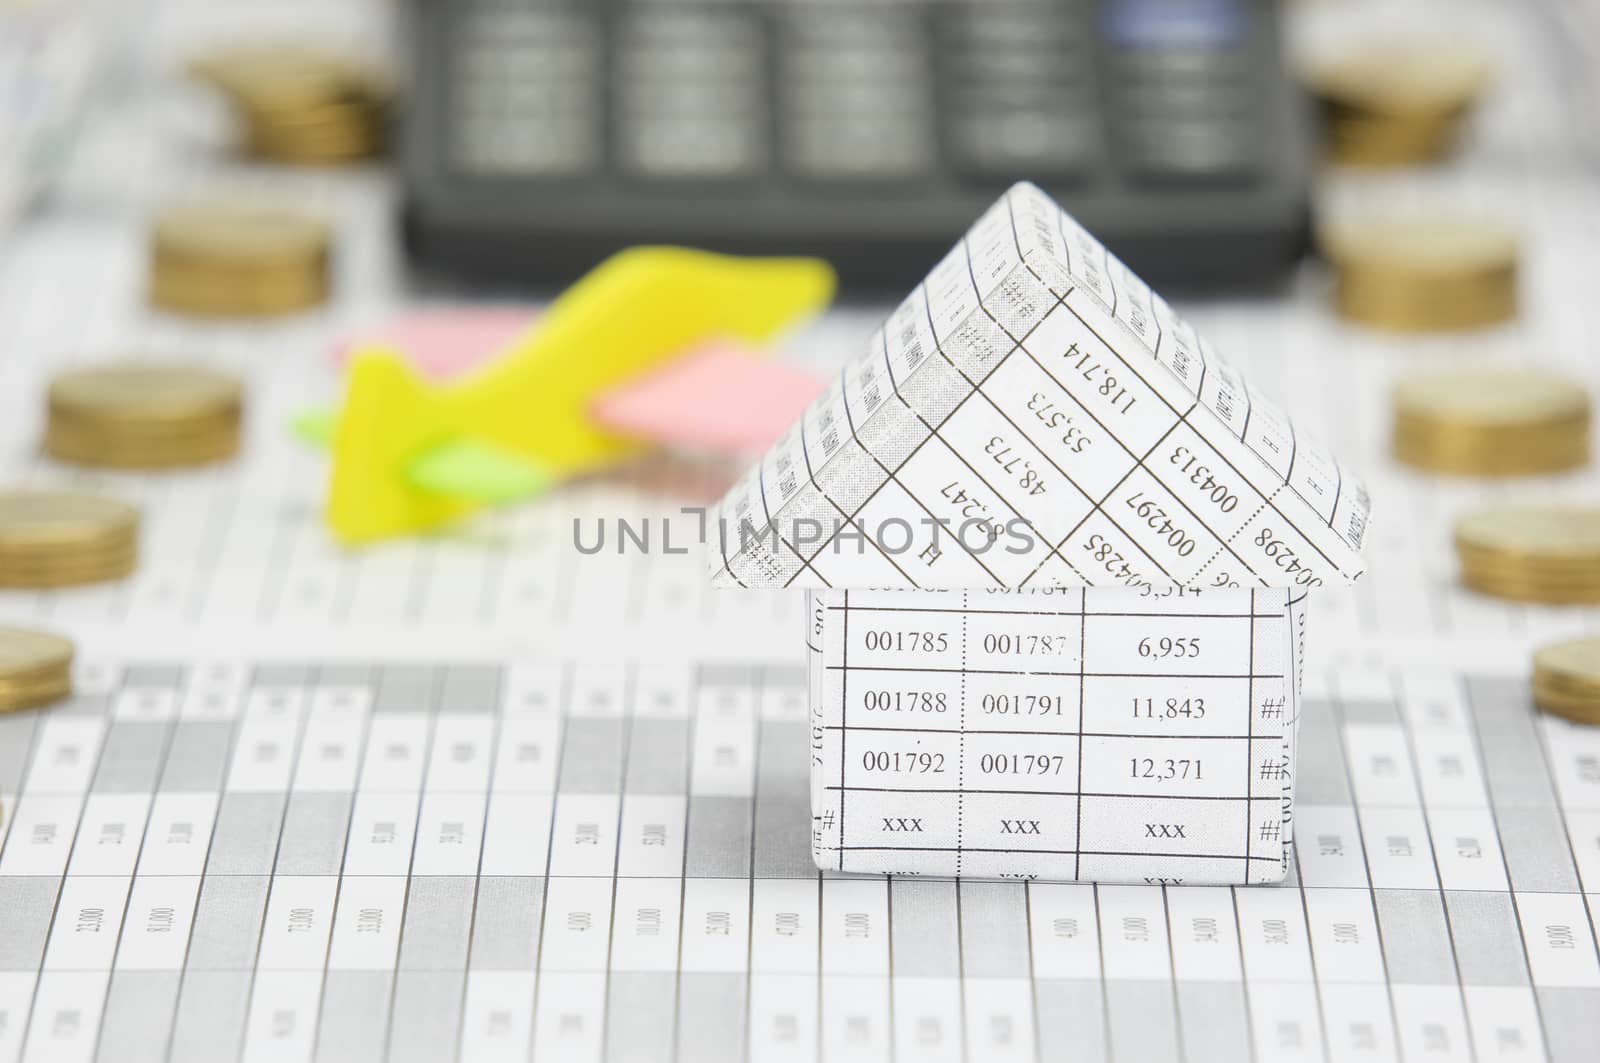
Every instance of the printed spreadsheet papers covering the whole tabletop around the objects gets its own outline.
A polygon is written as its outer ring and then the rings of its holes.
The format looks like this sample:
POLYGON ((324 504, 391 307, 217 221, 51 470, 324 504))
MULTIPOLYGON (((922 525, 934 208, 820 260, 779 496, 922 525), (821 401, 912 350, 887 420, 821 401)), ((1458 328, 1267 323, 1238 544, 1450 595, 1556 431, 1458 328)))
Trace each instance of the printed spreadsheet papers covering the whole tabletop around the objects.
MULTIPOLYGON (((1294 5, 1306 42, 1344 6, 1294 5)), ((0 1061, 1587 1063, 1600 740, 1534 716, 1526 668, 1600 613, 1464 592, 1448 527, 1600 480, 1437 480, 1384 439, 1400 371, 1539 362, 1600 384, 1587 6, 1378 5, 1486 42, 1501 88, 1450 166, 1318 189, 1328 211, 1515 221, 1517 322, 1352 328, 1315 264, 1280 299, 1176 306, 1379 514, 1366 576, 1310 600, 1288 879, 1240 889, 818 874, 803 594, 571 548, 574 517, 666 515, 678 495, 590 483, 459 535, 334 549, 325 466, 283 421, 334 394, 338 336, 451 293, 402 282, 386 174, 240 166, 214 150, 213 101, 170 72, 250 27, 371 46, 386 5, 130 8, 66 183, 0 243, 5 482, 115 490, 147 530, 125 584, 0 594, 6 621, 83 652, 82 696, 0 717, 0 1061), (144 307, 146 211, 218 183, 328 211, 325 311, 237 327, 144 307), (248 379, 240 461, 146 477, 38 458, 45 379, 141 351, 248 379)), ((837 368, 890 309, 830 314, 790 351, 837 368)))

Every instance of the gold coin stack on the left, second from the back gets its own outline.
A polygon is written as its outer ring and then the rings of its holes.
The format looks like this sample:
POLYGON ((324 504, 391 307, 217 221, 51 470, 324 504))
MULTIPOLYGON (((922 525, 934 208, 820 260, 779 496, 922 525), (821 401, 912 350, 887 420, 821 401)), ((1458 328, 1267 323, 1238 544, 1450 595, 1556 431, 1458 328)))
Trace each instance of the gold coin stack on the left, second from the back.
POLYGON ((150 301, 168 311, 269 315, 328 298, 328 227, 248 203, 163 211, 150 231, 150 301))

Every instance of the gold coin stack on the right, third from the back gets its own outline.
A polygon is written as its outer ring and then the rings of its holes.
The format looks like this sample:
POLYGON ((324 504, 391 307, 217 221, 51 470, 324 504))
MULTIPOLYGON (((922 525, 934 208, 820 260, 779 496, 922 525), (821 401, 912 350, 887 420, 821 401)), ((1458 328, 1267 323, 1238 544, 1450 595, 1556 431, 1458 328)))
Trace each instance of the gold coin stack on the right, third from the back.
POLYGON ((1394 455, 1418 469, 1533 475, 1589 463, 1589 391, 1562 373, 1416 373, 1394 405, 1394 455))

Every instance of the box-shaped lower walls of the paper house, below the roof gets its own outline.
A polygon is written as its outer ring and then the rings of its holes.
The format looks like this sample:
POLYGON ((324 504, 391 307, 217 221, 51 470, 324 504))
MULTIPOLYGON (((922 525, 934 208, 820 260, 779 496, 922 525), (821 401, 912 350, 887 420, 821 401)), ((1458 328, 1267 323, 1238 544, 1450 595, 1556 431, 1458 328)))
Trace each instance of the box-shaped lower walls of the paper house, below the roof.
POLYGON ((1304 592, 811 594, 822 868, 1277 882, 1304 592))

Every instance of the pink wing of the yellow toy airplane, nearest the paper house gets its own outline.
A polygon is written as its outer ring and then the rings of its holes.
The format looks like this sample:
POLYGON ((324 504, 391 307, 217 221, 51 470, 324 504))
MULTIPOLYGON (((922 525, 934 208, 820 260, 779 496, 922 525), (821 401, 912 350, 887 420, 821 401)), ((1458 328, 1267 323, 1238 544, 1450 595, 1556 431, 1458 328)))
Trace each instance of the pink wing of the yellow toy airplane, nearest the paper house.
POLYGON ((589 415, 602 427, 653 443, 762 450, 822 387, 806 370, 715 341, 600 395, 589 415))

